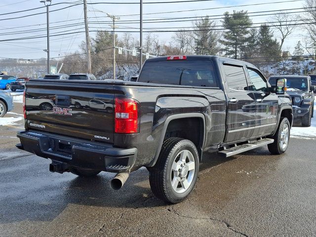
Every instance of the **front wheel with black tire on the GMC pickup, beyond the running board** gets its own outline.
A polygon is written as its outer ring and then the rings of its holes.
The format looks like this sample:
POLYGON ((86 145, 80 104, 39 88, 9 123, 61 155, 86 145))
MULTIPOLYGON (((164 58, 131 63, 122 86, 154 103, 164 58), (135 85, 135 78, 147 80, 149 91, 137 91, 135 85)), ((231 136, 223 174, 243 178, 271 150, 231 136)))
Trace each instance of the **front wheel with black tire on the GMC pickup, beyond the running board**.
MULTIPOLYGON (((272 155, 281 155, 286 151, 286 149, 288 147, 288 143, 290 141, 290 129, 291 129, 291 126, 290 126, 290 122, 288 121, 288 119, 281 117, 278 128, 276 130, 276 134, 272 137, 275 141, 274 141, 274 143, 268 144, 269 152, 272 155), (285 126, 284 124, 286 124, 287 128, 288 128, 288 133, 286 134, 287 142, 286 142, 285 147, 281 145, 281 142, 283 140, 282 132, 283 132, 283 128, 285 126)), ((284 140, 283 140, 283 144, 284 144, 284 140)))

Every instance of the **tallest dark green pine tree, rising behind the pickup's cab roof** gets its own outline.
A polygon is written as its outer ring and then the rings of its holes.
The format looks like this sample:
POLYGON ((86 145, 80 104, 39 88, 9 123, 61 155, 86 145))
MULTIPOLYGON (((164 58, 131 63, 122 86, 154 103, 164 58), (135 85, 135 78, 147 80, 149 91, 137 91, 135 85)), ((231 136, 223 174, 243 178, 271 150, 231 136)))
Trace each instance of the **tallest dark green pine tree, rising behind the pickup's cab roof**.
POLYGON ((228 11, 224 13, 224 20, 222 21, 227 31, 224 32, 224 44, 227 56, 233 56, 237 59, 238 56, 243 56, 243 49, 248 40, 249 30, 252 21, 249 18, 247 11, 235 11, 230 14, 228 11))

